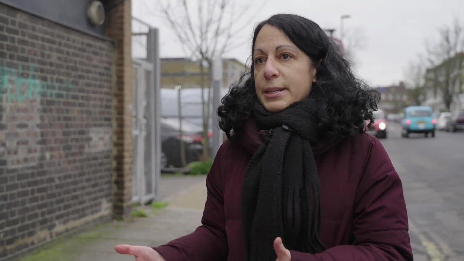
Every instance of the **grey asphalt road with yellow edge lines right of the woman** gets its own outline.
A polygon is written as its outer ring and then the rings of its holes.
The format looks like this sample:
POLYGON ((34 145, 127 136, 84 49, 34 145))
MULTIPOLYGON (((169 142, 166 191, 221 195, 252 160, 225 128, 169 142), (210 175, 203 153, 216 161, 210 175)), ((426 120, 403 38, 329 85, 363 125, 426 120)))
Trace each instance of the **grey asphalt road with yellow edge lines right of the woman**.
POLYGON ((414 258, 464 261, 464 132, 381 139, 403 183, 414 258))

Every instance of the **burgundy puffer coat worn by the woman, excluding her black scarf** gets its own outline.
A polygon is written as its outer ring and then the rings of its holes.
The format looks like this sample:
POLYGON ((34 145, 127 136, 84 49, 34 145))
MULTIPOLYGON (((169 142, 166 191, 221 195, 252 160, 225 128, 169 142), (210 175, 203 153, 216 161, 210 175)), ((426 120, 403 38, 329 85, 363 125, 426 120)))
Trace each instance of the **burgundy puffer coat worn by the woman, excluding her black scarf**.
MULTIPOLYGON (((206 179, 202 226, 155 248, 167 261, 245 260, 241 189, 251 157, 262 144, 254 120, 239 142, 226 141, 206 179)), ((263 133, 263 132, 261 132, 263 133)), ((400 177, 370 134, 313 148, 321 189, 322 253, 290 251, 294 261, 412 260, 400 177)))

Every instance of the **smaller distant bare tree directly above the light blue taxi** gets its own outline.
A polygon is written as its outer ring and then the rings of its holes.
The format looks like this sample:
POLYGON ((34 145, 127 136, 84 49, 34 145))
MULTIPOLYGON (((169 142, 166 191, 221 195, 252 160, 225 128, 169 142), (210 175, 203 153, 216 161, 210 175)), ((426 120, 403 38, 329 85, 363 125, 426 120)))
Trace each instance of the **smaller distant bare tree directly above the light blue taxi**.
POLYGON ((414 105, 421 105, 425 99, 425 67, 420 57, 416 61, 409 62, 404 82, 414 105))

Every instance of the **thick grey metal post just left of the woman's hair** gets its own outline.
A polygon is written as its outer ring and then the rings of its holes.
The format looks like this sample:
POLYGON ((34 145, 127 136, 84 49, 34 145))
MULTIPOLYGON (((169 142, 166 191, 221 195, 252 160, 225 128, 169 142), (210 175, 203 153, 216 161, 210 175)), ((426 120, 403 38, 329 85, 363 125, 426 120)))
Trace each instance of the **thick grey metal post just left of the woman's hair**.
POLYGON ((222 131, 218 128, 219 116, 217 110, 221 103, 222 89, 222 58, 217 56, 213 61, 213 151, 211 156, 215 157, 222 144, 222 131))

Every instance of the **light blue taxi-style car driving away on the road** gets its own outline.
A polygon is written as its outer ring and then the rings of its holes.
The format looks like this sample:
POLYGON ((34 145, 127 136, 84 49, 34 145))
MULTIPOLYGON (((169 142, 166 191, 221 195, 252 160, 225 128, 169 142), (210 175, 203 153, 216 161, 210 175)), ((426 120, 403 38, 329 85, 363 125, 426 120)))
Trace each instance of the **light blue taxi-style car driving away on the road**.
POLYGON ((404 118, 401 120, 402 136, 409 137, 409 133, 424 133, 425 137, 432 134, 435 137, 435 124, 433 110, 430 106, 409 106, 404 109, 404 118))

